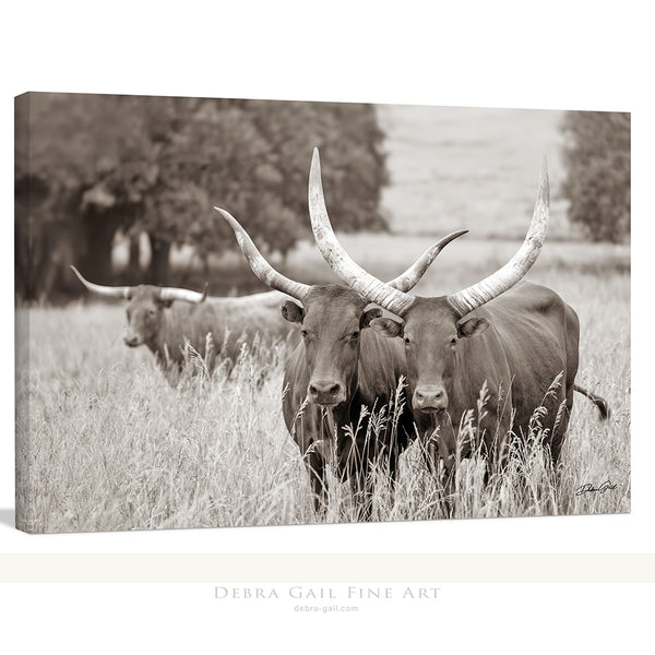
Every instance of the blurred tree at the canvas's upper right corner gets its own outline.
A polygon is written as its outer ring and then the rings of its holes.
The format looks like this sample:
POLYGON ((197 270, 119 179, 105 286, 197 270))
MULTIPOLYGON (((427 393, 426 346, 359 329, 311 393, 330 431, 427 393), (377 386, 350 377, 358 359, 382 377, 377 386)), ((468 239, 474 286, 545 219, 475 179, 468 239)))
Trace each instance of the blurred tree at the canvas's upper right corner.
POLYGON ((563 194, 569 218, 594 241, 630 236, 630 114, 569 111, 565 135, 568 177, 563 194))

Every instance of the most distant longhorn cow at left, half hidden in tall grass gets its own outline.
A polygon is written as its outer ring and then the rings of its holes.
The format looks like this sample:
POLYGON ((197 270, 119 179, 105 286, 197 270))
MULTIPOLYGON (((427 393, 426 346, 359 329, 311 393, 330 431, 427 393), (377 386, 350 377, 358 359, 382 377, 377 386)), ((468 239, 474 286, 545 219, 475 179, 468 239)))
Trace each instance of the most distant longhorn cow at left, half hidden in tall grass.
POLYGON ((147 346, 171 384, 179 380, 187 343, 205 358, 211 370, 218 355, 234 364, 241 345, 251 344, 255 334, 273 343, 293 332, 279 315, 278 307, 287 297, 278 291, 216 298, 207 297, 206 287, 199 294, 151 285, 103 286, 85 279, 74 266, 71 269, 90 291, 128 300, 124 343, 131 348, 147 346), (213 349, 207 353, 210 333, 213 349))

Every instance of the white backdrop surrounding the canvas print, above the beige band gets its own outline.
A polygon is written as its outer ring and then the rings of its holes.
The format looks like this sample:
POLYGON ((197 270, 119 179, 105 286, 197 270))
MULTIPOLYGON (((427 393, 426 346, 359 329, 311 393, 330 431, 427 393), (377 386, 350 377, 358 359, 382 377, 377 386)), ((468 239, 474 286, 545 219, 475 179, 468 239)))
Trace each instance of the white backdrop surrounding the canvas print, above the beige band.
MULTIPOLYGON (((652 20, 643 7, 571 0, 7 5, 0 21, 0 510, 14 507, 13 96, 25 91, 631 111, 638 356, 630 515, 53 536, 21 534, 5 519, 0 553, 655 551, 647 307, 655 57, 652 20)), ((94 603, 105 609, 114 603, 103 605, 103 594, 97 596, 94 603)), ((538 591, 531 598, 535 608, 548 607, 538 591)))

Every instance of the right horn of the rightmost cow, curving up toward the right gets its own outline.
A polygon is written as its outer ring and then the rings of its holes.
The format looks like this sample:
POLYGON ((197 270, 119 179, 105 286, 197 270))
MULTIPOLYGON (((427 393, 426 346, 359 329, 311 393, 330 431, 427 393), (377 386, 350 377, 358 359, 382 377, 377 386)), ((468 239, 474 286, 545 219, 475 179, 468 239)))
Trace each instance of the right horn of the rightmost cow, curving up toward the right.
POLYGON ((513 287, 529 271, 546 239, 549 216, 550 186, 548 183, 548 166, 544 157, 539 194, 525 240, 514 253, 514 257, 502 269, 477 284, 448 297, 449 302, 460 317, 489 302, 489 300, 493 300, 493 298, 513 287))

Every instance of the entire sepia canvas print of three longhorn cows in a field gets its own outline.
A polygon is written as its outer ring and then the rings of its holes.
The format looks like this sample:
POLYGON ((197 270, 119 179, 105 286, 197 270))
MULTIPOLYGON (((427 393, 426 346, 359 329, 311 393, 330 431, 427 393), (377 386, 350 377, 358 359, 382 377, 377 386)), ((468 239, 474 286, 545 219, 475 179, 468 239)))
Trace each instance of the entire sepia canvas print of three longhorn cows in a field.
POLYGON ((15 99, 16 526, 630 511, 630 115, 15 99))

